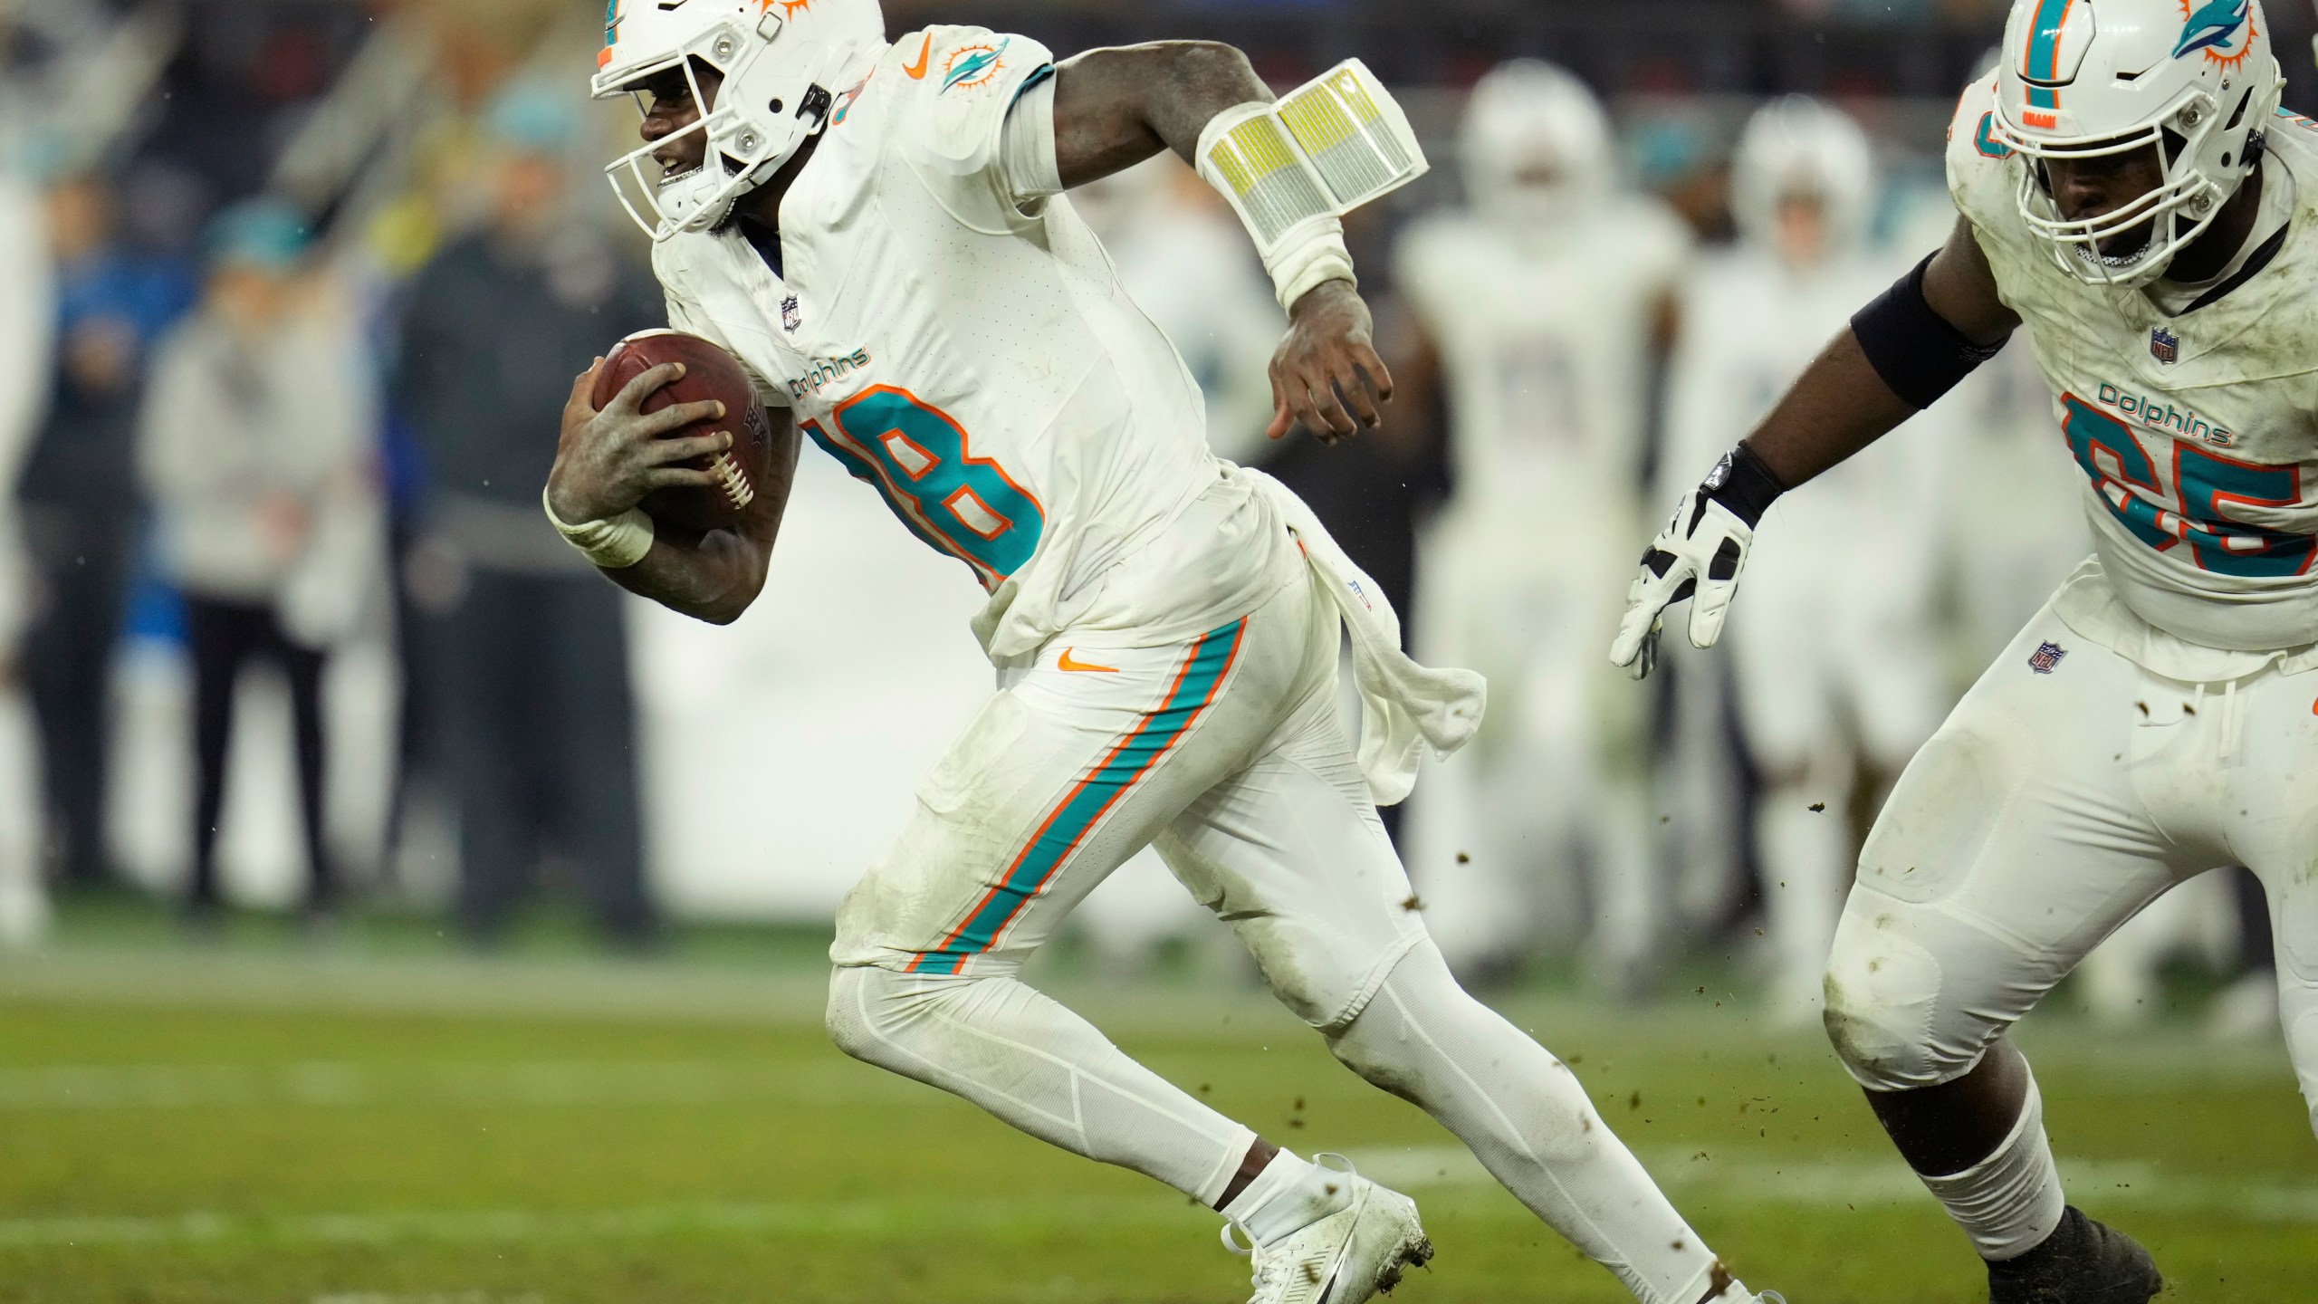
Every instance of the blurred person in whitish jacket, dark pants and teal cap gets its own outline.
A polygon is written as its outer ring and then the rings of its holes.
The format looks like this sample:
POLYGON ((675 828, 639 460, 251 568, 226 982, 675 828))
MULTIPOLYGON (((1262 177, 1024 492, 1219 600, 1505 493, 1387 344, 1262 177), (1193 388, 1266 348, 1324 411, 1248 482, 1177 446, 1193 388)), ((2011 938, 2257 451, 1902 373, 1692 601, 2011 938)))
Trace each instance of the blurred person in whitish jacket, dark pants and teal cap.
POLYGON ((334 898, 322 668, 359 620, 378 566, 378 397, 357 320, 306 253, 306 225, 280 202, 216 218, 202 306, 162 341, 139 427, 162 568, 185 599, 192 645, 195 919, 218 910, 234 680, 253 659, 274 661, 290 682, 308 912, 334 898))

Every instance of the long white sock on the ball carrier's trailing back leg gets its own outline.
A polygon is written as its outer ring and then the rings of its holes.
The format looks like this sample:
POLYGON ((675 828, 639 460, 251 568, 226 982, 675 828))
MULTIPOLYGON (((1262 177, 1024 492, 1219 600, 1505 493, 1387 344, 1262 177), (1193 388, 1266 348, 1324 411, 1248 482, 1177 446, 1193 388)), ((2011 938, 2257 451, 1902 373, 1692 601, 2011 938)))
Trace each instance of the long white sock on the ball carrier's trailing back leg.
POLYGON ((1576 1074, 1467 995, 1430 942, 1393 968, 1328 1049, 1456 1132, 1514 1197, 1643 1304, 1706 1295, 1715 1253, 1611 1135, 1576 1074))

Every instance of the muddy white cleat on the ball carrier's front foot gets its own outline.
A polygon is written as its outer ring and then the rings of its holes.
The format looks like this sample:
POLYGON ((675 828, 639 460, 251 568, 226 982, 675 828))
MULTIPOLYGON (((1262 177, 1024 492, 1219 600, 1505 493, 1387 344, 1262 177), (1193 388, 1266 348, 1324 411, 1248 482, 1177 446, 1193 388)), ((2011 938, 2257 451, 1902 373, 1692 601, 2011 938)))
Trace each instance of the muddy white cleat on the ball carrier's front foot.
POLYGON ((1224 1223, 1224 1248, 1254 1260, 1256 1292, 1247 1304, 1363 1304, 1400 1285, 1400 1274, 1433 1260, 1433 1241, 1416 1220, 1416 1202, 1351 1172, 1337 1160, 1351 1202, 1268 1246, 1240 1248, 1238 1223, 1224 1223))

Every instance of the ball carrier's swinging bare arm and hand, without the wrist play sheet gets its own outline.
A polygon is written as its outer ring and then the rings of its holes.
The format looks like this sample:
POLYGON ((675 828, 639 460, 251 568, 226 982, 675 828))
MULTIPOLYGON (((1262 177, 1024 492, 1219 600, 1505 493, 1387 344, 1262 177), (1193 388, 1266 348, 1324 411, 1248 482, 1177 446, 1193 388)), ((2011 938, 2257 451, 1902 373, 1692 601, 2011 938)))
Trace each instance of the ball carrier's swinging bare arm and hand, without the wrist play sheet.
MULTIPOLYGON (((1066 188, 1085 186, 1161 148, 1196 167, 1208 123, 1249 102, 1270 104, 1273 90, 1233 46, 1089 49, 1055 65, 1055 169, 1066 188)), ((1377 406, 1393 397, 1393 376, 1377 357, 1375 325, 1351 283, 1349 258, 1340 267, 1342 274, 1319 271, 1317 283, 1286 274, 1296 288, 1282 295, 1289 334, 1273 353, 1273 439, 1303 422, 1321 443, 1335 443, 1361 427, 1372 429, 1384 420, 1377 406)))

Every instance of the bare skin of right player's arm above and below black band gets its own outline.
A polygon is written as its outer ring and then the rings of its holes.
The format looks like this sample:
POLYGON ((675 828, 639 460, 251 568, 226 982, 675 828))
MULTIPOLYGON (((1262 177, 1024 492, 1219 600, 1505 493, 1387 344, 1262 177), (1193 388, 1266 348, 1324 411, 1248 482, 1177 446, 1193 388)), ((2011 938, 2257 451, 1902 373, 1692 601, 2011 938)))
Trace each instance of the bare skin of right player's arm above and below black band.
MULTIPOLYGON (((1989 271, 1980 239, 1961 218, 1924 269, 1924 302, 1973 343, 1996 343, 2019 325, 1996 295, 1996 274, 1989 271)), ((1745 443, 1771 466, 1778 483, 1792 490, 1912 415, 1915 408, 1891 392, 1859 348, 1859 336, 1845 327, 1787 387, 1745 443)))

